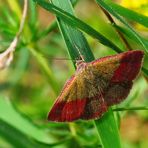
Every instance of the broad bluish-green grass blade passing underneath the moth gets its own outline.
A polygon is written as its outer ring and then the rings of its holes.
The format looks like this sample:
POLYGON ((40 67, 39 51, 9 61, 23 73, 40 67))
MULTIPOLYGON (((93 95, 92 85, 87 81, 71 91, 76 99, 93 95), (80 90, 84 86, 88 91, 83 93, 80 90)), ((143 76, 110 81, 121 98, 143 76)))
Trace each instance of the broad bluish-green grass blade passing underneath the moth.
MULTIPOLYGON (((73 14, 73 9, 70 1, 68 0, 52 0, 52 2, 68 11, 69 13, 73 14)), ((76 28, 72 28, 71 26, 67 25, 64 21, 57 17, 58 25, 60 27, 61 33, 63 38, 66 42, 70 55, 73 56, 73 52, 76 51, 77 54, 80 53, 83 55, 86 61, 91 61, 94 59, 93 54, 88 46, 88 43, 81 32, 76 30, 76 28), (78 46, 78 49, 74 46, 78 46), (71 50, 73 47, 73 50, 71 50)), ((74 54, 74 58, 77 58, 77 55, 74 54)), ((94 124, 97 127, 97 131, 99 133, 99 137, 101 138, 102 145, 105 148, 109 148, 112 143, 114 143, 115 148, 120 148, 120 140, 116 122, 114 120, 113 113, 110 109, 102 119, 96 120, 94 124), (110 126, 109 126, 110 125, 110 126), (107 132, 106 132, 107 131, 107 132)))

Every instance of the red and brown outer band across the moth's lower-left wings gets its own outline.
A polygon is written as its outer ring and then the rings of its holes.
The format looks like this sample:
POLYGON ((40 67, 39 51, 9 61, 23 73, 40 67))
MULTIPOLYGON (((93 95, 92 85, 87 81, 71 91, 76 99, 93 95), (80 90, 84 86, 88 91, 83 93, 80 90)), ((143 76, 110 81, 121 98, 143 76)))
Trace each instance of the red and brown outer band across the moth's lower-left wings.
POLYGON ((70 122, 78 119, 96 119, 101 117, 107 108, 106 103, 98 97, 55 103, 48 114, 48 120, 70 122))

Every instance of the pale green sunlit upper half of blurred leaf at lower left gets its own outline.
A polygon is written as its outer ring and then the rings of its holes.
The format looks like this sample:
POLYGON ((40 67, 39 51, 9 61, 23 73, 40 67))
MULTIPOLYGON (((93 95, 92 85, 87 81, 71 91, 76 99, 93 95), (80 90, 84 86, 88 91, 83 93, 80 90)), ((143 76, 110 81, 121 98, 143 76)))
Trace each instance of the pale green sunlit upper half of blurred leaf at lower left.
MULTIPOLYGON (((52 143, 54 139, 35 126, 26 116, 20 114, 4 96, 0 96, 0 120, 9 124, 24 135, 43 143, 52 143)), ((1 125, 1 124, 0 124, 1 125)))

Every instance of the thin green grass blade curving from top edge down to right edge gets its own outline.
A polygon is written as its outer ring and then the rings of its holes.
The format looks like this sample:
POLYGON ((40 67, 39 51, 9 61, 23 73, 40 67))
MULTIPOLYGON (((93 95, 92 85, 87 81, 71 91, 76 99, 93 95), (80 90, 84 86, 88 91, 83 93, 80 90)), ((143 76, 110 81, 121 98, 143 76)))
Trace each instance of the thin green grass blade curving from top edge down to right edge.
MULTIPOLYGON (((105 0, 107 2, 107 0, 105 0)), ((141 39, 140 35, 112 8, 108 3, 105 3, 103 0, 96 0, 99 6, 104 8, 106 11, 108 11, 110 14, 112 14, 114 17, 116 17, 120 22, 122 22, 128 30, 135 36, 138 40, 138 42, 144 47, 145 51, 148 53, 148 48, 146 47, 145 43, 141 39)))

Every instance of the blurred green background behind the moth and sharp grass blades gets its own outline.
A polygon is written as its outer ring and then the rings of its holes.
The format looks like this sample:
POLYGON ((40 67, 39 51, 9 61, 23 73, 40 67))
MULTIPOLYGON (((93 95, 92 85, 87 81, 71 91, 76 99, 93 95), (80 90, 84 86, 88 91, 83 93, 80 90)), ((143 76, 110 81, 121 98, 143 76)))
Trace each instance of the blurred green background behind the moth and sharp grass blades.
MULTIPOLYGON (((76 1, 73 1, 76 2, 76 1)), ((116 4, 148 16, 147 0, 116 0, 116 4)), ((0 51, 4 51, 16 35, 23 10, 22 0, 0 0, 0 51)), ((95 1, 79 0, 76 16, 125 50, 115 29, 95 1)), ((115 21, 120 24, 118 20, 115 21)), ((145 39, 148 28, 128 20, 145 39)), ((115 51, 86 35, 95 58, 115 51)), ((127 37, 126 37, 127 38, 127 37)), ((142 47, 127 38, 133 49, 142 47)), ((147 57, 147 56, 145 56, 147 57)), ((93 122, 51 123, 47 114, 65 81, 74 73, 55 16, 31 0, 24 30, 11 65, 0 71, 0 147, 99 147, 93 122), (56 58, 63 58, 58 60, 56 58)), ((148 68, 145 58, 144 67, 148 68)), ((118 107, 148 106, 148 78, 141 72, 128 98, 118 107)), ((116 114, 116 113, 115 113, 116 114)), ((148 147, 148 111, 122 111, 120 135, 123 148, 148 147)))

